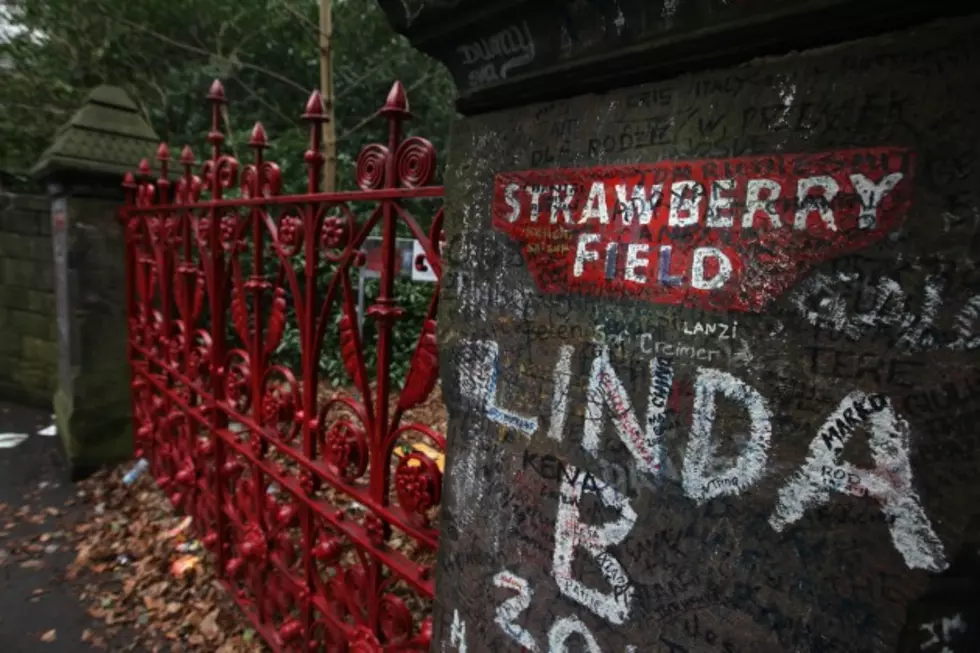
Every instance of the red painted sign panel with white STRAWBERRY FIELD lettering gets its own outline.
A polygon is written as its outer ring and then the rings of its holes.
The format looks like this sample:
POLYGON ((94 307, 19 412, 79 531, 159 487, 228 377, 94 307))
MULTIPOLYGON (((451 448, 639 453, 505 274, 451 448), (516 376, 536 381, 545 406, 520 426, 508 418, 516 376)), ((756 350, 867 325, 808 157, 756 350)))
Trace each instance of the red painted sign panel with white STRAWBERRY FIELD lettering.
POLYGON ((758 312, 897 228, 913 167, 908 150, 871 148, 507 172, 493 226, 548 294, 758 312))

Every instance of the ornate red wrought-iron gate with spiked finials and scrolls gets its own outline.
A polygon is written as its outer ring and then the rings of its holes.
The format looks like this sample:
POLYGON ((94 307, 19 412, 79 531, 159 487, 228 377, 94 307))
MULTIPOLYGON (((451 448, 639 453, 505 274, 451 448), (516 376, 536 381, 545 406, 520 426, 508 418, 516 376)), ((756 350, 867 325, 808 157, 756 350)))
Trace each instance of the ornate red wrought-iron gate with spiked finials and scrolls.
POLYGON ((395 448, 414 439, 444 449, 439 433, 405 418, 437 381, 438 284, 400 392, 391 352, 404 313, 394 296, 399 224, 440 274, 442 209, 424 233, 401 204, 441 198, 429 185, 435 150, 403 137, 410 114, 396 83, 378 112, 387 143, 358 158, 360 190, 321 193, 326 116, 314 92, 303 114, 308 192, 280 195, 262 125, 248 143, 252 163, 240 166, 222 149, 220 82, 208 101, 211 156, 200 174, 185 147, 171 177, 161 144, 158 178, 143 161, 124 182, 137 451, 194 517, 223 582, 274 650, 427 651, 430 618, 413 615, 427 614, 433 596, 441 471, 395 448), (229 197, 236 188, 240 197, 229 197), (377 332, 370 378, 351 271, 376 228, 383 266, 367 310, 377 332), (288 328, 299 333, 298 370, 276 360, 288 328), (328 347, 341 349, 353 392, 321 390, 328 347))

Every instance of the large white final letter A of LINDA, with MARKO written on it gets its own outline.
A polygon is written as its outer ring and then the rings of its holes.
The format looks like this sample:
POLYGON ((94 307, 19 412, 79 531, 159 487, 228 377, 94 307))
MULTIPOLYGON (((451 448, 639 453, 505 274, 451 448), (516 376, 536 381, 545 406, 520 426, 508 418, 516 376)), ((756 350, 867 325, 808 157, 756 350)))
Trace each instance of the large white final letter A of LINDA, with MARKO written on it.
POLYGON ((818 431, 803 468, 779 491, 769 523, 781 531, 807 510, 830 501, 831 492, 870 497, 881 504, 892 543, 905 564, 942 571, 947 566, 942 542, 912 487, 909 437, 908 423, 895 414, 888 398, 851 393, 818 431), (842 460, 845 445, 862 426, 870 431, 874 469, 842 460))

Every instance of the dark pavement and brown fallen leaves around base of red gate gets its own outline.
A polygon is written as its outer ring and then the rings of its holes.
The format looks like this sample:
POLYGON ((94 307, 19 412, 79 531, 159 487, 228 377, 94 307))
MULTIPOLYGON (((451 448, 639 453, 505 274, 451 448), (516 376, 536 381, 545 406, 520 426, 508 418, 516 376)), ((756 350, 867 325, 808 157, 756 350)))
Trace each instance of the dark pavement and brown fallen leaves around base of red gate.
MULTIPOLYGON (((49 420, 0 406, 0 422, 6 418, 23 422, 24 432, 49 420)), ((438 390, 408 418, 444 434, 438 390)), ((72 485, 58 438, 31 436, 0 452, 0 650, 267 651, 217 582, 189 520, 152 477, 123 484, 132 465, 72 485)), ((335 499, 345 505, 344 497, 335 499)), ((433 562, 407 538, 391 543, 433 562)), ((426 602, 405 598, 421 622, 426 602)))

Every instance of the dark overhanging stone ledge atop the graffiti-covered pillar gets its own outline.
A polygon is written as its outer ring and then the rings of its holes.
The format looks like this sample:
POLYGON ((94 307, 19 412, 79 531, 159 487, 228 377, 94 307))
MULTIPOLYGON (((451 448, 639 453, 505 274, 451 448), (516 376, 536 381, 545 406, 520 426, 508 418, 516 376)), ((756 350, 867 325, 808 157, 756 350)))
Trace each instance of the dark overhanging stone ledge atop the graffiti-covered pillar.
POLYGON ((926 0, 378 0, 478 113, 970 9, 926 0))

